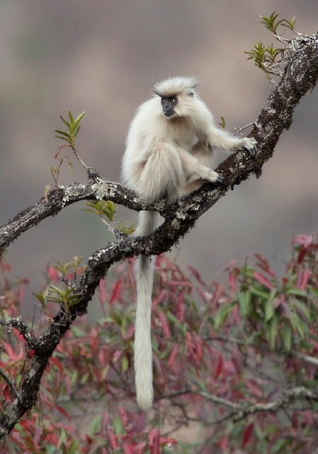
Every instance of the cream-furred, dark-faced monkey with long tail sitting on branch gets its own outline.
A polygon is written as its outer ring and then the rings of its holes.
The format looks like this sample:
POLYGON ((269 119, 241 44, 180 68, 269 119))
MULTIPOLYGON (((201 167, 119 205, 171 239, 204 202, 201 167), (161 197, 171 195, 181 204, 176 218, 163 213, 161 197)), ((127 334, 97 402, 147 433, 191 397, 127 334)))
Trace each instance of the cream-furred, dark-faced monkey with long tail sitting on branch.
MULTIPOLYGON (((204 182, 221 183, 212 170, 214 149, 231 153, 239 148, 256 154, 253 138, 229 135, 216 127, 214 118, 194 92, 197 79, 171 77, 153 86, 154 95, 141 104, 131 122, 123 158, 126 187, 148 202, 173 202, 204 182)), ((141 211, 136 234, 149 235, 158 226, 157 211, 141 211)), ((134 342, 138 405, 153 403, 153 369, 150 336, 154 260, 140 255, 136 262, 137 311, 134 342)))

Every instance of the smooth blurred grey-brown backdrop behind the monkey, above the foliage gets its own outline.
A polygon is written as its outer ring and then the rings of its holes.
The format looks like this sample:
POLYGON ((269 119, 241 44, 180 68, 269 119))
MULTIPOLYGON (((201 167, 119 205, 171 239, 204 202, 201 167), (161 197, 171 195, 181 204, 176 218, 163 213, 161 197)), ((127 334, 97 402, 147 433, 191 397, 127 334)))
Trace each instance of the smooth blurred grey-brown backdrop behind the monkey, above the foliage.
MULTIPOLYGON (((54 129, 68 110, 87 111, 79 155, 111 181, 119 181, 128 125, 154 81, 197 76, 217 123, 226 117, 233 132, 256 121, 273 86, 243 51, 258 41, 281 47, 257 17, 273 11, 296 16, 300 33, 317 31, 317 0, 1 0, 1 225, 53 184, 60 143, 54 129)), ((292 233, 318 231, 317 101, 317 89, 302 99, 261 179, 250 177, 229 192, 172 250, 182 266, 191 263, 208 281, 221 279, 217 272, 230 260, 258 252, 279 272, 292 233)), ((86 182, 84 169, 66 148, 65 154, 75 168, 65 163, 59 184, 86 182)), ((86 262, 113 239, 82 208, 64 209, 8 249, 14 274, 31 278, 30 303, 48 262, 74 255, 86 262)), ((129 224, 136 214, 121 209, 119 218, 129 224)))

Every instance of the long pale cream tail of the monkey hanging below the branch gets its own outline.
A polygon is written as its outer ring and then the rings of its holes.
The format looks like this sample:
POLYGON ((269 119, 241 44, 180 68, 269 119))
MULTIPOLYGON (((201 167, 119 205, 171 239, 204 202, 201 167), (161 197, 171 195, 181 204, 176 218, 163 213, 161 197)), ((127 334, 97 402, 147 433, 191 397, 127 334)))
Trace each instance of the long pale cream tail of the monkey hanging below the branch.
MULTIPOLYGON (((138 234, 150 234, 158 223, 156 211, 141 211, 138 234)), ((148 410, 153 404, 153 364, 151 348, 151 292, 154 260, 140 255, 136 262, 137 311, 135 326, 135 382, 138 405, 148 410)))

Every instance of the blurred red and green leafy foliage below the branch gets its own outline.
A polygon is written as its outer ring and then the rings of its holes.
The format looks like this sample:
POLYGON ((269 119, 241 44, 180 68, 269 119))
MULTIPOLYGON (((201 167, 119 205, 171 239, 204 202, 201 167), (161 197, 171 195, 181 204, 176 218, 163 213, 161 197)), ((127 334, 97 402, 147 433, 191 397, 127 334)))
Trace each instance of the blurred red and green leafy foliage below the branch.
MULTIPOLYGON (((79 259, 72 263, 48 267, 51 288, 58 289, 79 259)), ((184 272, 161 256, 155 265, 153 411, 146 415, 135 402, 131 301, 136 288, 133 264, 124 262, 114 270, 114 284, 99 287, 97 323, 77 320, 57 346, 38 405, 3 441, 5 452, 313 453, 314 400, 297 399, 277 411, 240 418, 226 402, 249 408, 275 402, 290 387, 317 389, 317 238, 292 240, 283 277, 259 254, 243 265, 231 262, 224 282, 204 282, 193 267, 184 272), (182 426, 192 442, 178 432, 182 426)), ((4 261, 0 283, 1 317, 16 316, 27 280, 12 279, 4 261)), ((46 301, 41 331, 56 302, 46 301)), ((17 387, 31 358, 17 331, 3 328, 0 367, 17 387)), ((14 396, 1 379, 0 390, 5 411, 14 396)))

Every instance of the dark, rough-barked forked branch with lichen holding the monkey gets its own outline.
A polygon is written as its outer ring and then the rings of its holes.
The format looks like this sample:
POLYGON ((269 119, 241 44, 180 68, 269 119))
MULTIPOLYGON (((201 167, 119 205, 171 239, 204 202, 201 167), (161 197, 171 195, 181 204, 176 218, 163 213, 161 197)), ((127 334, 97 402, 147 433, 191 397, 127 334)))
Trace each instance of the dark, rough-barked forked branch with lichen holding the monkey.
MULTIPOLYGON (((16 400, 7 407, 6 414, 0 417, 0 437, 8 434, 23 414, 34 406, 40 380, 48 365, 48 360, 62 336, 70 328, 72 321, 87 310, 87 304, 109 267, 115 262, 140 253, 158 255, 167 252, 194 226, 199 216, 213 206, 229 189, 233 189, 236 184, 240 184, 253 173, 256 177, 261 175, 263 164, 273 155, 280 134, 290 128, 295 106, 301 97, 312 91, 317 84, 317 33, 310 36, 300 35, 293 40, 289 57, 290 60, 287 62, 283 77, 270 94, 268 102, 250 134, 259 143, 256 157, 252 158, 244 151, 231 155, 218 167, 218 172, 224 175, 224 182, 220 186, 214 187, 212 184, 206 184, 187 199, 182 199, 175 204, 168 205, 162 201, 149 206, 144 204, 136 194, 121 187, 120 184, 108 182, 97 172, 91 172, 89 177, 92 182, 58 187, 46 198, 22 211, 0 228, 0 253, 2 253, 28 228, 36 226, 48 216, 55 216, 65 206, 81 200, 111 200, 137 211, 157 209, 165 219, 163 225, 150 236, 123 235, 119 240, 94 253, 89 258, 87 269, 75 289, 76 292, 82 293, 81 302, 72 306, 68 313, 61 309, 48 331, 40 338, 35 338, 19 318, 0 320, 3 325, 17 328, 26 339, 28 348, 32 348, 35 352, 26 377, 18 389, 16 400)), ((13 390, 13 392, 15 391, 13 390)), ((299 396, 295 395, 296 397, 299 396)), ((292 399, 290 395, 286 398, 292 399)), ((307 398, 313 398, 313 396, 307 398)), ((236 410, 238 413, 246 412, 246 409, 236 410)))

